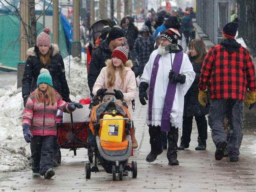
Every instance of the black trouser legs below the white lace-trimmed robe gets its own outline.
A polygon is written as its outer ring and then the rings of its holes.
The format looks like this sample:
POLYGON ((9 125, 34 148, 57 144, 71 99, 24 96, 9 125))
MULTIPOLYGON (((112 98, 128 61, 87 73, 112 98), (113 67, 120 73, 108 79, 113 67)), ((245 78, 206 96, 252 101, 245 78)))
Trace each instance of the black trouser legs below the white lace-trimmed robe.
MULTIPOLYGON (((162 151, 161 127, 149 125, 149 135, 150 135, 151 153, 159 154, 162 151)), ((179 138, 178 128, 171 126, 170 131, 167 132, 167 140, 168 140, 167 158, 169 161, 173 159, 177 159, 178 138, 179 138)))

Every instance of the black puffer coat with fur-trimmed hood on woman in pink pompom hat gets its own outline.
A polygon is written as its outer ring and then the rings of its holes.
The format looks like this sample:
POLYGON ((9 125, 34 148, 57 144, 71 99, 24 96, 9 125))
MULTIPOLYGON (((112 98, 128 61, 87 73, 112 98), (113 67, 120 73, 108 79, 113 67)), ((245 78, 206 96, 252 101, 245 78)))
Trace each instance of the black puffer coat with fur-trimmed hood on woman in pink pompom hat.
POLYGON ((65 76, 65 67, 62 56, 60 55, 60 50, 58 45, 52 44, 50 47, 51 55, 50 60, 51 64, 44 65, 41 63, 39 57, 40 52, 38 47, 31 47, 27 51, 27 62, 22 79, 22 97, 23 100, 27 100, 31 92, 36 88, 37 77, 40 74, 42 68, 49 70, 52 81, 53 88, 58 91, 58 93, 63 97, 63 100, 66 102, 71 102, 69 98, 69 88, 65 76))

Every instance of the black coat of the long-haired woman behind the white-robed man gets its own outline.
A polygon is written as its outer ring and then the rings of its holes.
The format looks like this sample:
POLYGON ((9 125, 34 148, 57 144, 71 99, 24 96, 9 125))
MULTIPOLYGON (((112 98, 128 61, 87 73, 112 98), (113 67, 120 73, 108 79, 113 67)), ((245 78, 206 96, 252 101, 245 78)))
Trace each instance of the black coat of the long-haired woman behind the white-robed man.
MULTIPOLYGON (((205 56, 204 56, 205 57, 205 56)), ((204 59, 203 57, 203 59, 204 59)), ((185 95, 184 99, 184 115, 185 117, 190 116, 203 116, 209 113, 209 105, 203 107, 200 105, 198 101, 198 83, 200 78, 200 71, 203 64, 203 59, 199 63, 195 63, 195 58, 189 55, 190 62, 192 63, 193 69, 196 73, 195 80, 191 87, 189 88, 188 92, 185 95)))

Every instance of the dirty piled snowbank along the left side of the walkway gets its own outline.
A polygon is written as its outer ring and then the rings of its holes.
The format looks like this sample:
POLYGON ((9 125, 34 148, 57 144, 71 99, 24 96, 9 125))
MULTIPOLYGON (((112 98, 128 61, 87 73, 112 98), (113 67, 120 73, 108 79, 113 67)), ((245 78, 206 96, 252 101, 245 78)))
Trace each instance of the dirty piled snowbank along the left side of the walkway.
MULTIPOLYGON (((69 56, 64 59, 66 78, 72 101, 79 101, 90 96, 87 86, 87 69, 85 54, 82 60, 69 56), (70 77, 69 77, 70 66, 70 77)), ((6 75, 1 73, 1 79, 6 75)), ((29 145, 23 139, 21 119, 23 113, 23 99, 21 88, 17 89, 15 75, 8 79, 8 84, 1 83, 0 87, 0 172, 18 171, 29 165, 29 145), (26 146, 26 149, 24 148, 26 146)), ((17 77, 16 77, 17 78, 17 77)))

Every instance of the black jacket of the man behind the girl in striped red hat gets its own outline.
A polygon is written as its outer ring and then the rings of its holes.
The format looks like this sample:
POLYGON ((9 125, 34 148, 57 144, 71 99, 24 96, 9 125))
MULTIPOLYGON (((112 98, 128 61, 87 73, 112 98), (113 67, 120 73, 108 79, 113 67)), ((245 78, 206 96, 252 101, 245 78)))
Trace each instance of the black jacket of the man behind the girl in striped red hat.
MULTIPOLYGON (((111 50, 109 49, 109 44, 107 41, 102 41, 100 43, 99 48, 95 50, 95 52, 92 55, 92 59, 89 63, 89 72, 88 72, 88 86, 92 95, 92 89, 94 86, 94 83, 96 82, 97 77, 100 74, 100 71, 103 67, 106 66, 105 61, 107 59, 111 58, 111 50)), ((132 60, 132 71, 135 74, 135 77, 137 77, 140 74, 138 62, 132 52, 129 51, 128 59, 132 60)))

